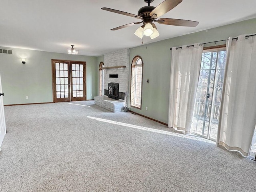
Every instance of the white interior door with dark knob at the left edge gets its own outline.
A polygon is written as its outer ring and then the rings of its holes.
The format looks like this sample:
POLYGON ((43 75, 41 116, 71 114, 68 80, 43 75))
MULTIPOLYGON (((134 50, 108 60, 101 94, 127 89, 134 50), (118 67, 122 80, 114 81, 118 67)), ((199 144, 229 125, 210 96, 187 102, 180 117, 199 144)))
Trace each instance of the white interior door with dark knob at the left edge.
POLYGON ((0 75, 0 150, 1 150, 2 142, 4 140, 4 135, 6 134, 3 96, 4 94, 2 92, 2 83, 1 83, 1 75, 0 75))

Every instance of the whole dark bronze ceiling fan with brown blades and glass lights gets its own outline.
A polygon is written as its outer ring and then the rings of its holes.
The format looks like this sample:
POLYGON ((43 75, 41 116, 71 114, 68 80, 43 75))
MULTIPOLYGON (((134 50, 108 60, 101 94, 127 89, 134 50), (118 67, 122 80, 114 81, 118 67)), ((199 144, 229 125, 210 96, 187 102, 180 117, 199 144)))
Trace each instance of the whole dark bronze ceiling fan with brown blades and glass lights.
POLYGON ((138 28, 134 33, 139 38, 142 38, 143 35, 150 36, 151 39, 154 39, 159 36, 156 25, 153 23, 153 21, 159 24, 176 25, 176 26, 195 27, 198 25, 199 22, 197 21, 182 20, 182 19, 160 18, 156 20, 157 18, 159 18, 163 14, 166 14, 168 11, 172 10, 174 7, 180 4, 182 0, 165 0, 156 7, 150 6, 150 3, 152 3, 153 1, 154 0, 144 0, 144 2, 148 4, 148 6, 144 6, 140 8, 140 10, 138 11, 138 15, 111 9, 111 8, 106 8, 106 7, 103 7, 101 9, 142 20, 141 22, 133 22, 133 23, 129 23, 126 25, 122 25, 122 26, 110 29, 114 31, 114 30, 125 28, 125 27, 133 26, 136 24, 140 24, 143 22, 143 25, 140 28, 138 28))

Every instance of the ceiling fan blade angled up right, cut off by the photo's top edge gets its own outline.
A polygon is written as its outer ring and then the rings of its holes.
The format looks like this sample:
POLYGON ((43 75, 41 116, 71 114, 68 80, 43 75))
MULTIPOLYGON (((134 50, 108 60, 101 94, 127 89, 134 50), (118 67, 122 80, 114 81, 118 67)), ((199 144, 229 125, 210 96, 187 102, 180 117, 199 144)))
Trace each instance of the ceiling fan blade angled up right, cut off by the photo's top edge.
POLYGON ((172 10, 178 4, 180 4, 182 0, 165 0, 160 3, 156 8, 150 12, 151 18, 158 18, 163 14, 166 14, 168 11, 172 10))

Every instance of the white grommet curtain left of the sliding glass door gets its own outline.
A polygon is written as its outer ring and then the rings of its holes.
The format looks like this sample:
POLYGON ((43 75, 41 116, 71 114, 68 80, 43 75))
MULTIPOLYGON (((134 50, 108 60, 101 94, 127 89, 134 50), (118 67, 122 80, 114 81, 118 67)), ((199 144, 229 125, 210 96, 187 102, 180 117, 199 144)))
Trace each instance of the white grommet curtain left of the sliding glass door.
POLYGON ((190 134, 203 46, 172 48, 168 127, 190 134))

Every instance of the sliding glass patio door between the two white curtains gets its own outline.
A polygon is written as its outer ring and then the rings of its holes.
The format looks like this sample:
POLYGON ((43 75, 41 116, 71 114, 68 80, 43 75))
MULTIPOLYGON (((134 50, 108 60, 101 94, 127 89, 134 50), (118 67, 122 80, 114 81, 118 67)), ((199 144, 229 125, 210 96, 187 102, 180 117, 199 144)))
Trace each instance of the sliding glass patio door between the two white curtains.
POLYGON ((226 48, 203 52, 191 130, 211 140, 217 137, 225 65, 226 48))

